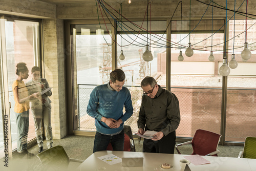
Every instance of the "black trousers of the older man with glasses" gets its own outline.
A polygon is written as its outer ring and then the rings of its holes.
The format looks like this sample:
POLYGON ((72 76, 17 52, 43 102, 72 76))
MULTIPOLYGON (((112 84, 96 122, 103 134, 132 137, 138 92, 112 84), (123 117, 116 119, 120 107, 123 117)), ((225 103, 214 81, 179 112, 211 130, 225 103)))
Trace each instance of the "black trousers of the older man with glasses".
POLYGON ((153 141, 152 139, 144 139, 143 152, 174 154, 175 140, 175 131, 169 133, 166 136, 163 136, 163 138, 158 141, 153 141))

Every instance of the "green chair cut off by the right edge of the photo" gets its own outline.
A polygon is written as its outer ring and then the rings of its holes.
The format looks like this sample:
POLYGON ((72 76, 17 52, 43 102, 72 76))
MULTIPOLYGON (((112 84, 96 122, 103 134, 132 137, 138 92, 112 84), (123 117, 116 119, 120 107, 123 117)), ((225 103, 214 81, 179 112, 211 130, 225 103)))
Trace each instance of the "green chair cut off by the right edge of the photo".
POLYGON ((256 137, 246 137, 244 150, 239 153, 238 158, 256 159, 256 137))

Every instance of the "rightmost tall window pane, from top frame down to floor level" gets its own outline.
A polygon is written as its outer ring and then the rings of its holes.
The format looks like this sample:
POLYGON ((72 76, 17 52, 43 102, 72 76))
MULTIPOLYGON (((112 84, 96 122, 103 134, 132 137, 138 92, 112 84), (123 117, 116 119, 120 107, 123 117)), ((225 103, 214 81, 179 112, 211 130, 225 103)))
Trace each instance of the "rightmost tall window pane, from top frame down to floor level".
POLYGON ((231 54, 235 54, 238 62, 236 69, 230 69, 228 76, 227 93, 227 117, 226 117, 226 141, 243 142, 245 137, 256 136, 256 20, 230 20, 229 22, 229 61, 231 54), (234 37, 234 39, 233 39, 234 37), (249 44, 251 58, 242 60, 241 52, 244 50, 244 42, 249 44))

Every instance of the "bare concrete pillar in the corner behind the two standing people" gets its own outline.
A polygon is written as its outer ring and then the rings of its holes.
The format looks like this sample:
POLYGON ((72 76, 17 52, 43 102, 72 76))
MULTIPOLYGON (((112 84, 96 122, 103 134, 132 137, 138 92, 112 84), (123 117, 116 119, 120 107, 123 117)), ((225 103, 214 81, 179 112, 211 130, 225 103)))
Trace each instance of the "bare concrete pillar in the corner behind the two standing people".
POLYGON ((65 54, 63 20, 44 19, 44 67, 45 77, 52 89, 52 129, 53 138, 67 135, 67 111, 65 95, 65 54))

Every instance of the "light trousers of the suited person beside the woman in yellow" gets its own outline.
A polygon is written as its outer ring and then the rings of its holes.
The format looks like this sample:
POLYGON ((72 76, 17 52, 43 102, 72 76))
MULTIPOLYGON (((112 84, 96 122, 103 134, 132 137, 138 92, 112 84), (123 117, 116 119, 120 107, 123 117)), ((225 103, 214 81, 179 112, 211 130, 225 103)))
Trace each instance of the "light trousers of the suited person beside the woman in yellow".
POLYGON ((42 141, 42 121, 44 121, 45 126, 45 136, 47 147, 50 148, 52 146, 52 125, 51 125, 51 104, 47 107, 43 106, 41 109, 32 108, 31 112, 34 118, 35 124, 35 135, 36 141, 39 147, 44 146, 44 142, 42 141))

